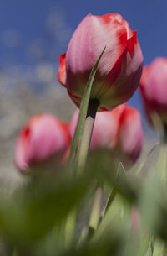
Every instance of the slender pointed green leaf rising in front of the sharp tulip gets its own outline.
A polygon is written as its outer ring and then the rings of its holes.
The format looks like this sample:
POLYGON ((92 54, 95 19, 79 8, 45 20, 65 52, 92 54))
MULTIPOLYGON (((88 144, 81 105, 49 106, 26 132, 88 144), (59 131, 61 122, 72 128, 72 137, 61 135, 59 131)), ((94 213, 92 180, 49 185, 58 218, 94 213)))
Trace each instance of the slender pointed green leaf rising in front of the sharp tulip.
MULTIPOLYGON (((105 50, 105 48, 106 47, 104 47, 104 50, 105 50)), ((92 85, 94 82, 94 76, 95 76, 97 68, 98 68, 99 60, 101 59, 102 55, 104 54, 104 50, 99 55, 98 60, 95 62, 94 67, 89 76, 89 81, 87 82, 87 85, 85 86, 85 89, 83 91, 83 97, 82 97, 82 101, 81 101, 81 105, 80 105, 80 112, 78 115, 78 123, 75 128, 75 133, 73 136, 73 141, 71 143, 70 153, 69 153, 69 157, 68 157, 69 170, 71 169, 71 166, 73 163, 73 156, 77 149, 78 141, 80 140, 82 133, 83 133, 83 123, 84 123, 86 113, 87 113, 88 107, 89 107, 89 98, 91 95, 92 85)))

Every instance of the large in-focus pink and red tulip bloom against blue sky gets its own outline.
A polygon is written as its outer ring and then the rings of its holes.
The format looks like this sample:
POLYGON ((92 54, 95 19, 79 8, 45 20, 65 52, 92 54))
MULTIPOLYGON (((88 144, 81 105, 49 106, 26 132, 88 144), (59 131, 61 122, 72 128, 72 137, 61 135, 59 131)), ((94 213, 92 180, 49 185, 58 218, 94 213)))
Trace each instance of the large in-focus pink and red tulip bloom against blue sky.
POLYGON ((83 18, 60 56, 58 79, 79 107, 84 87, 95 61, 106 46, 94 79, 91 98, 99 110, 110 110, 134 94, 143 67, 136 32, 119 14, 91 14, 83 18))

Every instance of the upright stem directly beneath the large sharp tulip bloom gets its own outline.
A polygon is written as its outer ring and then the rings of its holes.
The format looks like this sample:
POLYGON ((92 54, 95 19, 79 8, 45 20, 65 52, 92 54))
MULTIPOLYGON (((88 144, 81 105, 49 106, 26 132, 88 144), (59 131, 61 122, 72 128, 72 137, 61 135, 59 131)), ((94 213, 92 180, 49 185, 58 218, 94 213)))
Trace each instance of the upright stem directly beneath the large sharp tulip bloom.
POLYGON ((80 143, 78 144, 78 151, 76 155, 76 169, 78 171, 82 170, 83 165, 86 162, 88 153, 89 153, 89 146, 92 137, 92 132, 94 128, 94 120, 96 116, 96 112, 99 107, 99 101, 96 99, 89 101, 89 108, 87 112, 87 116, 84 122, 83 127, 83 135, 81 138, 80 143))

